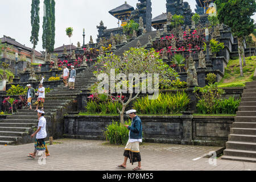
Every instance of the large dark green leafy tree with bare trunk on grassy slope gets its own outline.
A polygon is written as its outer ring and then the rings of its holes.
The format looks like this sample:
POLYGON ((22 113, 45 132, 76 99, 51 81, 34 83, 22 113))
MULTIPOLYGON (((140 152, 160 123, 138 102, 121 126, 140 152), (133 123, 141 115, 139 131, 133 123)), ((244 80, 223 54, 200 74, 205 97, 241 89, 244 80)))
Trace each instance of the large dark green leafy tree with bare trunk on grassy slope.
MULTIPOLYGON (((255 0, 216 0, 217 16, 220 23, 231 27, 238 39, 240 75, 243 76, 242 55, 244 58, 243 38, 254 31, 254 20, 251 16, 256 11, 255 0)), ((245 59, 243 59, 245 66, 245 59)))

